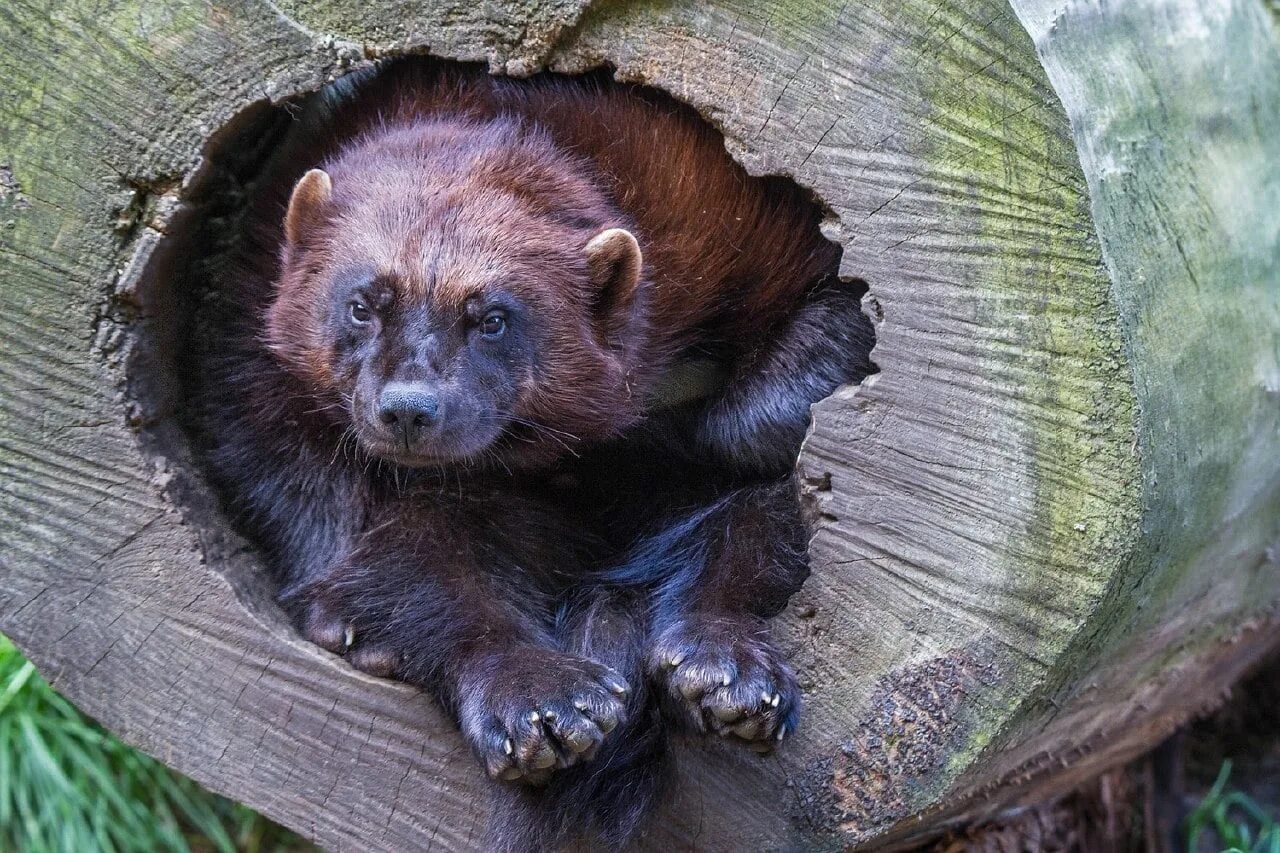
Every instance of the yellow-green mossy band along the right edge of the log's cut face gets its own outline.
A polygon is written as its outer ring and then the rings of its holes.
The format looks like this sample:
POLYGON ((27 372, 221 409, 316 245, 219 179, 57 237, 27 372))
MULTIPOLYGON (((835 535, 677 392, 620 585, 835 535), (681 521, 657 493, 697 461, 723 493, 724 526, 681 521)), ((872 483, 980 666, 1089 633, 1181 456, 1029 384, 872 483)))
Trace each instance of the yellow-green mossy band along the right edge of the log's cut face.
MULTIPOLYGON (((975 373, 1018 388, 1034 520, 998 569, 1004 617, 1036 638, 1024 652, 1055 661, 1039 676, 1044 689, 1071 671, 1064 652, 1103 601, 1135 530, 1133 377, 1098 242, 1082 227, 1089 199, 1066 117, 1019 23, 996 3, 942 6, 916 50, 931 63, 927 156, 940 183, 963 175, 966 213, 978 211, 968 250, 980 260, 968 268, 965 298, 973 320, 1002 336, 975 373), (1021 51, 993 55, 991 32, 1021 51)), ((1007 734, 1030 686, 997 685, 984 702, 1007 702, 1007 711, 969 715, 966 743, 931 798, 1007 734)))

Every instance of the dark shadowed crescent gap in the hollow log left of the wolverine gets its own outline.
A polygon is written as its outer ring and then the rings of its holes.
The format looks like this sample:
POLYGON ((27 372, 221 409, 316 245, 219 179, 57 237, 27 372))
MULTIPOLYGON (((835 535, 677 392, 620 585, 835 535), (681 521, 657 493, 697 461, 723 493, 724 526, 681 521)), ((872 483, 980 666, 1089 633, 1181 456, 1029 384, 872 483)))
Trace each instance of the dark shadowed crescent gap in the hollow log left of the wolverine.
MULTIPOLYGON (((147 222, 157 201, 177 202, 178 188, 132 184, 128 227, 140 232, 136 257, 145 268, 114 295, 99 341, 124 353, 129 421, 140 429, 154 475, 200 533, 204 558, 232 581, 266 626, 292 631, 275 603, 276 584, 256 548, 242 538, 224 496, 207 479, 192 411, 201 318, 216 298, 211 280, 239 238, 255 181, 287 134, 296 101, 255 102, 206 143, 201 167, 182 192, 182 206, 163 225, 147 222), (154 247, 146 241, 156 238, 154 247)), ((122 220, 124 220, 122 213, 122 220)))

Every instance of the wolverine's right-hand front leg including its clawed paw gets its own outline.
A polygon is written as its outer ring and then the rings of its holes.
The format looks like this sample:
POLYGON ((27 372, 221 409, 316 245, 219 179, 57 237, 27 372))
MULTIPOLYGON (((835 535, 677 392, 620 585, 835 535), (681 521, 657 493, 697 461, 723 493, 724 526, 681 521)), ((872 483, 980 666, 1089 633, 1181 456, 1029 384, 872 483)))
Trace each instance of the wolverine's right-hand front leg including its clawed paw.
POLYGON ((677 720, 772 748, 795 678, 769 635, 809 573, 794 478, 735 489, 646 539, 620 570, 653 576, 650 678, 677 720))

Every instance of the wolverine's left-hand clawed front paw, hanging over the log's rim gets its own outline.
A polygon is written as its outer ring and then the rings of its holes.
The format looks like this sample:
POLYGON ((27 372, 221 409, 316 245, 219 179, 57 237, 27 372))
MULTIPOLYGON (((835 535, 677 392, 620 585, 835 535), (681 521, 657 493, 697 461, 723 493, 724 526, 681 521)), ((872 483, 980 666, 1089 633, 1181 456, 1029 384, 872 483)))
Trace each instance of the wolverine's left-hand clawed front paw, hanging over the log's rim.
POLYGON ((497 654, 461 685, 460 724, 493 779, 541 784, 589 761, 626 716, 616 671, 552 649, 497 654))

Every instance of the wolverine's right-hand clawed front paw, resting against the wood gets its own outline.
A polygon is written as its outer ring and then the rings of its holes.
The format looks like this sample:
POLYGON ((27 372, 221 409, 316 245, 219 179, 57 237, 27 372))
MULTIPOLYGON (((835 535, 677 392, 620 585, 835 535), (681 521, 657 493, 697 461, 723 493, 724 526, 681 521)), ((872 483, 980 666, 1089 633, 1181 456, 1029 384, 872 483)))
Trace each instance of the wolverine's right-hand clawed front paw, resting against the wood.
POLYGON ((800 692, 763 620, 690 616, 659 633, 652 678, 699 731, 771 752, 795 731, 800 692))

